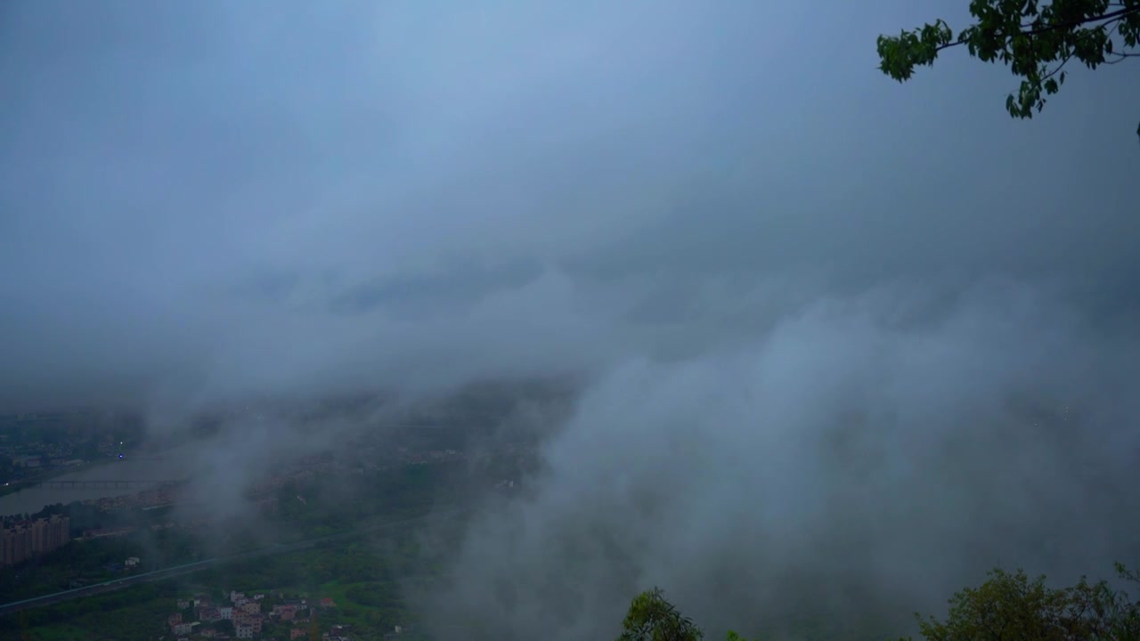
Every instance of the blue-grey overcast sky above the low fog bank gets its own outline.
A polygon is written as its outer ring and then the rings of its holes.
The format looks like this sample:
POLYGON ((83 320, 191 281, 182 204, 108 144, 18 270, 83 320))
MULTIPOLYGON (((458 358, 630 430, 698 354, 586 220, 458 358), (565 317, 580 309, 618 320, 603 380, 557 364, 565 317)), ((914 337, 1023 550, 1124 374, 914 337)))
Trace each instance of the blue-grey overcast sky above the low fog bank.
POLYGON ((1129 290, 1134 70, 1032 122, 961 55, 881 75, 943 5, 6 2, 3 401, 596 367, 792 281, 1129 290))

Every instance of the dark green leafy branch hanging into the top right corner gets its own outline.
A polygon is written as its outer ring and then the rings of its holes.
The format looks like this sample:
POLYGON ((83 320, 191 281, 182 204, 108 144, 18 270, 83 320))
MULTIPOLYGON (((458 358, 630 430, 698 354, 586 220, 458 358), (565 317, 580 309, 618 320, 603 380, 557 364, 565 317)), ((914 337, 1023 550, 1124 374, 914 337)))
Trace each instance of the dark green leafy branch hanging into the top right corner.
POLYGON ((1001 62, 1021 79, 1005 109, 1013 117, 1033 117, 1045 96, 1065 84, 1070 60, 1094 70, 1140 56, 1140 0, 971 0, 970 14, 977 22, 956 38, 942 19, 880 35, 879 68, 904 82, 919 65, 933 65, 943 49, 966 47, 970 56, 1001 62))

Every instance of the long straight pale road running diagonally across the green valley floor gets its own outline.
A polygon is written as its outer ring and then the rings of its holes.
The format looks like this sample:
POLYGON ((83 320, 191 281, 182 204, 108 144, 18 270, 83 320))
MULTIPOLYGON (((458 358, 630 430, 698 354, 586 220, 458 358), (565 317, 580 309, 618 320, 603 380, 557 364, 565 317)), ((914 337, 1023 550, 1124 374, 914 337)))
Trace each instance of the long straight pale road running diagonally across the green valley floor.
POLYGON ((130 587, 131 585, 137 585, 140 583, 150 583, 155 581, 165 581, 168 578, 174 578, 196 571, 204 570, 215 565, 231 563, 235 561, 246 561, 250 559, 258 559, 261 557, 269 557, 274 554, 286 554, 288 552, 296 552, 298 550, 304 550, 306 547, 312 547, 315 545, 320 545, 323 543, 332 543, 335 541, 343 541, 348 538, 353 538, 360 536, 361 534, 367 534, 369 532, 382 530, 385 528, 391 528, 396 526, 410 525, 416 522, 432 521, 432 520, 443 520, 451 517, 458 517, 461 514, 467 513, 470 510, 465 508, 453 508, 449 510, 440 510, 432 512, 430 514, 424 514, 421 517, 412 517, 407 519, 397 519, 392 521, 374 522, 366 526, 360 526, 353 528, 349 532, 342 532, 337 534, 332 534, 328 536, 321 536, 319 538, 310 538, 308 541, 299 541, 296 543, 283 544, 278 543, 276 545, 270 545, 268 547, 261 547, 259 550, 251 550, 249 552, 242 552, 239 554, 229 554, 226 557, 215 557, 213 559, 206 559, 204 561, 195 561, 193 563, 185 563, 181 566, 173 566, 170 568, 163 568, 161 570, 154 570, 149 573, 142 573, 131 576, 125 576, 123 578, 116 578, 113 581, 107 581, 104 583, 97 583, 95 585, 87 585, 84 587, 76 587, 74 590, 64 590, 63 592, 55 592, 52 594, 44 594, 42 597, 33 597, 31 599, 24 599, 23 601, 13 601, 11 603, 5 603, 0 606, 0 616, 7 616, 21 610, 26 610, 30 608, 40 608, 43 606, 51 606, 54 603, 59 603, 62 601, 70 601, 72 599, 79 599, 80 597, 90 597, 92 594, 103 594, 105 592, 114 592, 115 590, 122 590, 124 587, 130 587))

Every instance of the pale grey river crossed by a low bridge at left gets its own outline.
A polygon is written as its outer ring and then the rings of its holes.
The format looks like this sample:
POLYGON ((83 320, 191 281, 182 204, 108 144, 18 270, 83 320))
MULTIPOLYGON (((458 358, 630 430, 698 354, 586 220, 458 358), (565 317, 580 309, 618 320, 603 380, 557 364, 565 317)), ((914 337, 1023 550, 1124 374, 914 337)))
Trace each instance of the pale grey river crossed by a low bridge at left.
MULTIPOLYGON (((55 477, 51 480, 132 480, 158 481, 186 478, 189 473, 188 457, 178 451, 163 453, 156 459, 123 459, 105 464, 84 468, 81 471, 55 477)), ((26 487, 13 494, 0 496, 0 514, 35 513, 46 505, 91 498, 106 498, 136 494, 154 485, 131 487, 26 487)))

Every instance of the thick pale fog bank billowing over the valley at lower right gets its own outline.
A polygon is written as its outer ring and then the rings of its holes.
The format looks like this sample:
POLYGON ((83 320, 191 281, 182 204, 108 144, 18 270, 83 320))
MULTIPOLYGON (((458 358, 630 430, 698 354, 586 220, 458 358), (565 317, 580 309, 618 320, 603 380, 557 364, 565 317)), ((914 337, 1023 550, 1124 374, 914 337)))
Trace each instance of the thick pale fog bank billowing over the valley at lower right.
POLYGON ((472 527, 431 620, 612 638, 657 585, 716 634, 881 638, 995 565, 1073 581, 1133 560, 1134 338, 1009 282, 922 323, 913 307, 895 289, 819 301, 601 378, 529 498, 472 527))

